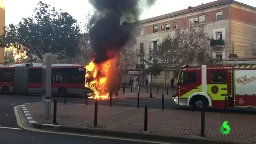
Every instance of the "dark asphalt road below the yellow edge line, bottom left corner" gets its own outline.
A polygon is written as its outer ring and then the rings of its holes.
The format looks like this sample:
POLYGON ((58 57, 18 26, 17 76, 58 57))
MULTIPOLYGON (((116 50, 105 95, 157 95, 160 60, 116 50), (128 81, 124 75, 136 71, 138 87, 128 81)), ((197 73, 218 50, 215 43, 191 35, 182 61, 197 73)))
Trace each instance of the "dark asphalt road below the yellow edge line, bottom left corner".
MULTIPOLYGON (((129 140, 83 137, 54 133, 41 133, 29 130, 13 130, 0 128, 1 144, 154 144, 129 140)), ((170 143, 178 144, 178 143, 170 143)), ((180 143, 181 144, 181 143, 180 143)))

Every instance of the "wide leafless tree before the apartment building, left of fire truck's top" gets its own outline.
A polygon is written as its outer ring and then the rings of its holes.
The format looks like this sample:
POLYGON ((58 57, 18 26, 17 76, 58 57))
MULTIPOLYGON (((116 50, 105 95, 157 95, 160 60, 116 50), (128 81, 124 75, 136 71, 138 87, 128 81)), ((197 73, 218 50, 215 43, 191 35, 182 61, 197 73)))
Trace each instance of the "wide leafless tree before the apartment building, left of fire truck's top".
MULTIPOLYGON (((205 62, 205 58, 209 56, 205 53, 209 46, 206 34, 204 24, 186 26, 184 23, 181 28, 175 30, 173 36, 167 35, 163 38, 152 56, 161 63, 163 70, 175 67, 177 72, 181 65, 191 61, 205 62)), ((209 61, 210 58, 207 59, 206 61, 209 61)))

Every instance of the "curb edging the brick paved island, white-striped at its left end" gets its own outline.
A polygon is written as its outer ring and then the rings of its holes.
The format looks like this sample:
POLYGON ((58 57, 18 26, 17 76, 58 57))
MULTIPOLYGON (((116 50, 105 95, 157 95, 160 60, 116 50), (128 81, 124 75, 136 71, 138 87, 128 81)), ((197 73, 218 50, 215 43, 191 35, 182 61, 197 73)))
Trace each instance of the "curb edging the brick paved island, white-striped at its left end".
MULTIPOLYGON (((164 136, 164 135, 150 134, 145 132, 141 132, 141 133, 120 132, 120 131, 113 131, 113 130, 104 130, 100 128, 77 128, 77 127, 66 127, 62 125, 43 124, 40 122, 36 122, 31 117, 31 114, 29 113, 29 110, 26 108, 25 104, 21 105, 20 108, 21 108, 22 114, 25 117, 23 121, 26 120, 26 122, 33 128, 43 129, 47 131, 103 135, 108 137, 143 139, 143 140, 152 140, 152 141, 168 142, 168 143, 172 142, 172 143, 186 143, 186 144, 205 144, 205 143, 207 144, 252 144, 252 143, 242 143, 242 142, 233 142, 233 141, 231 142, 227 140, 208 139, 208 138, 202 138, 199 136, 195 136, 195 137, 164 136)), ((19 112, 19 115, 21 115, 20 112, 19 112)))

